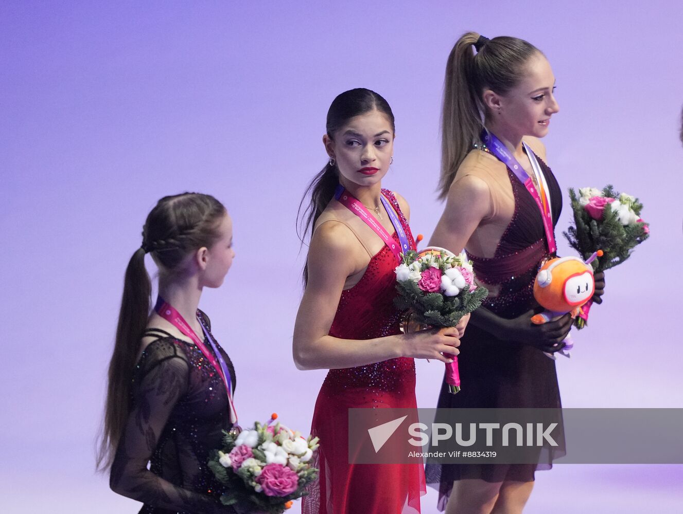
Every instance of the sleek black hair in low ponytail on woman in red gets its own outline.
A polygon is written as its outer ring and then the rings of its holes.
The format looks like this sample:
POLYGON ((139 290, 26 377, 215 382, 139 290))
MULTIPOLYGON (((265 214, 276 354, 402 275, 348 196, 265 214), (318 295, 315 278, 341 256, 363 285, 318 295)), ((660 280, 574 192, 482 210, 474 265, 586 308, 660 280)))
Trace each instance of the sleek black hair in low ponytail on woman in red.
MULTIPOLYGON (((335 132, 339 130, 351 118, 364 115, 366 112, 378 110, 387 116, 391 123, 391 130, 395 131, 395 122, 393 112, 387 100, 381 95, 359 87, 357 89, 350 89, 344 91, 333 100, 329 110, 327 111, 326 132, 327 136, 334 139, 335 132)), ((324 168, 313 177, 304 193, 301 202, 299 203, 297 221, 297 234, 301 242, 313 235, 313 228, 316 226, 318 217, 325 210, 327 204, 332 200, 335 189, 339 184, 339 171, 336 164, 325 164, 324 168), (306 209, 301 213, 301 208, 307 196, 311 196, 311 200, 306 209)), ((304 286, 308 282, 308 260, 303 268, 303 283, 304 286)))

